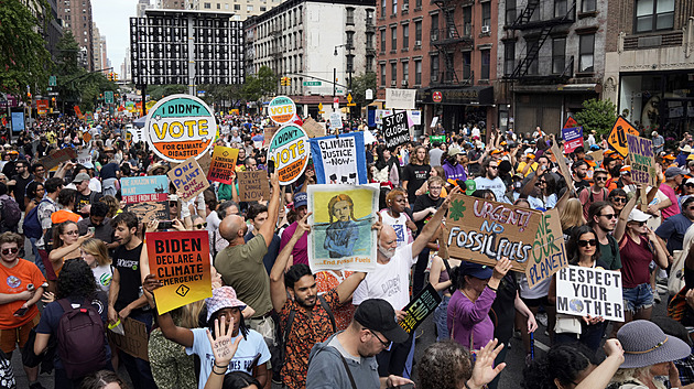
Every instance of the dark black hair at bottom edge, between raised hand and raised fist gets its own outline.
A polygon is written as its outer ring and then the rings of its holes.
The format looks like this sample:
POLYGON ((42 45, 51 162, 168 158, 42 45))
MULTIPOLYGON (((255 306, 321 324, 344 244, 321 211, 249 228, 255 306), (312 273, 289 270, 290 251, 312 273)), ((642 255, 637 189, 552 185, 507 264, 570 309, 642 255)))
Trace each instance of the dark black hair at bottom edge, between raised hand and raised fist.
POLYGON ((563 387, 576 381, 590 365, 599 365, 595 354, 583 343, 555 345, 547 354, 535 359, 523 370, 523 389, 556 389, 556 379, 563 387))

